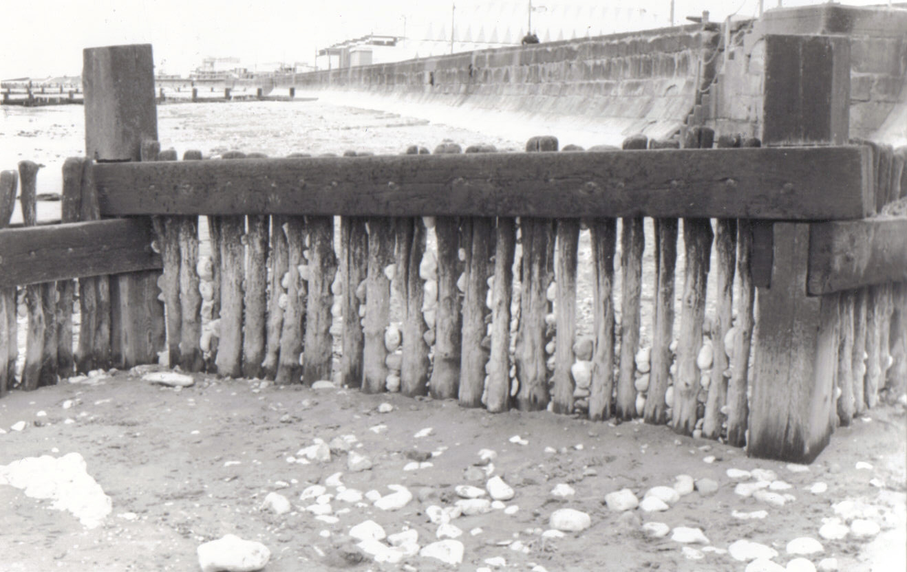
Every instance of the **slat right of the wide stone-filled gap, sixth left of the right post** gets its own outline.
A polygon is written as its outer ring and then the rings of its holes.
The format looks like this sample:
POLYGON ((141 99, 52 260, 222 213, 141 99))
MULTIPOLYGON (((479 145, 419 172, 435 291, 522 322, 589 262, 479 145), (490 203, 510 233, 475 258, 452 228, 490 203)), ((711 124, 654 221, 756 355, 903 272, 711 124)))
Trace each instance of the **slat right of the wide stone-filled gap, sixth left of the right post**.
POLYGON ((595 267, 593 329, 595 349, 592 353, 592 380, 589 394, 589 418, 608 419, 614 404, 614 247, 617 244, 617 220, 593 218, 589 223, 592 261, 595 267))

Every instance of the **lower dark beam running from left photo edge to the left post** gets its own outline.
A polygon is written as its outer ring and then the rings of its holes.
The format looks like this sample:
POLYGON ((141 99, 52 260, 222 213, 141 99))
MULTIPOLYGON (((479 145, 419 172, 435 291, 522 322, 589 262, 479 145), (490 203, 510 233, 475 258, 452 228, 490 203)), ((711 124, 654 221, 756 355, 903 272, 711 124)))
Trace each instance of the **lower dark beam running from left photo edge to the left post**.
POLYGON ((161 267, 150 218, 0 230, 0 287, 161 267))

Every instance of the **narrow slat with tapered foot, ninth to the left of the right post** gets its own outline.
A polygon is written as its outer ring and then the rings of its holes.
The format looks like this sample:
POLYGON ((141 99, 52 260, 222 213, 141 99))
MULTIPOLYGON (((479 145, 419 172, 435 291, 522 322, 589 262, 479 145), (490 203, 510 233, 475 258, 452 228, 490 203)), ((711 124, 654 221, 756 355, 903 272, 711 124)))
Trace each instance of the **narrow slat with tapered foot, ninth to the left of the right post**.
POLYGON ((490 412, 510 409, 510 329, 513 290, 513 256, 516 247, 513 218, 498 218, 494 250, 491 367, 485 404, 490 412))

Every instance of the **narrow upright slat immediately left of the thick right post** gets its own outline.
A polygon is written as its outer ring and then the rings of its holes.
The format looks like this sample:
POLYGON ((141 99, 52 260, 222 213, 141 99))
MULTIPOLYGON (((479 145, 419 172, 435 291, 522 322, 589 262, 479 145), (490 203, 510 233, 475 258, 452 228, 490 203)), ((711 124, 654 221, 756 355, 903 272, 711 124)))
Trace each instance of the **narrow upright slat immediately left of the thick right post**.
MULTIPOLYGON (((758 147, 761 141, 749 138, 742 141, 741 144, 744 147, 758 147)), ((727 383, 727 442, 735 447, 746 445, 746 427, 749 416, 747 388, 749 385, 749 356, 755 324, 753 301, 756 299, 756 288, 753 285, 753 273, 749 264, 752 250, 752 223, 746 218, 740 218, 737 220, 736 261, 740 296, 736 299, 737 323, 732 354, 734 367, 731 369, 731 377, 727 383)))

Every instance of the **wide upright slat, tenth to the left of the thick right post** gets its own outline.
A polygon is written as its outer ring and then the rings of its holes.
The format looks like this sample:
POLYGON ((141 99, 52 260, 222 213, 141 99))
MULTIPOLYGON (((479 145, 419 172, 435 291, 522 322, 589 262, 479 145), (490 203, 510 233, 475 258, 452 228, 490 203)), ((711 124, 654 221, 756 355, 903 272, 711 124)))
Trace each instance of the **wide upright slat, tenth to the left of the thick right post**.
MULTIPOLYGON (((488 146, 468 147, 467 153, 493 152, 488 146)), ((488 277, 493 275, 494 218, 463 218, 463 338, 460 360, 459 402, 463 407, 481 407, 485 387, 485 364, 489 347, 485 343, 488 277)))

